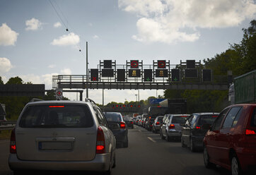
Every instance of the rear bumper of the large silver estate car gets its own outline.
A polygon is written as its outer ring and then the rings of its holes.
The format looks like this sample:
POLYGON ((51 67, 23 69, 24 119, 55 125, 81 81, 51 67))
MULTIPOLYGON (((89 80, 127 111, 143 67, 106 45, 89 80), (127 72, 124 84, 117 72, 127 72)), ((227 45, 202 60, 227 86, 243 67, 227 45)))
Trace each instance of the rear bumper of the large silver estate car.
POLYGON ((18 159, 16 154, 8 158, 10 169, 107 171, 110 167, 110 153, 95 155, 91 161, 30 161, 18 159))

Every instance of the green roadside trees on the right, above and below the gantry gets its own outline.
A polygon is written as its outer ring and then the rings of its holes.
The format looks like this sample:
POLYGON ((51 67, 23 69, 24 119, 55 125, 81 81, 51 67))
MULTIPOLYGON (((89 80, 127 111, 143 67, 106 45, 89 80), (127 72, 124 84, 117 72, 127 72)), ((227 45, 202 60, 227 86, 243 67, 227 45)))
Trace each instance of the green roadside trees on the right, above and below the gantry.
MULTIPOLYGON (((248 29, 243 29, 243 40, 239 44, 231 44, 230 48, 214 58, 204 59, 204 67, 211 68, 214 76, 240 76, 256 68, 256 20, 250 22, 248 29)), ((178 66, 182 70, 184 67, 178 66)), ((165 90, 165 98, 187 99, 187 111, 221 111, 228 105, 228 90, 165 90)))

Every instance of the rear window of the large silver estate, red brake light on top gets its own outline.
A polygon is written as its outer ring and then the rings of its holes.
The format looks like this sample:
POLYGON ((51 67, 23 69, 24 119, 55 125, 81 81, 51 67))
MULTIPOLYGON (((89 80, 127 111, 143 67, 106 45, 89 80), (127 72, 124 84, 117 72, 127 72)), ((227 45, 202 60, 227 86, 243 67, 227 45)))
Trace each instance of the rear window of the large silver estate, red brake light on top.
POLYGON ((26 107, 19 126, 22 128, 89 128, 93 126, 93 118, 87 105, 33 105, 26 107))

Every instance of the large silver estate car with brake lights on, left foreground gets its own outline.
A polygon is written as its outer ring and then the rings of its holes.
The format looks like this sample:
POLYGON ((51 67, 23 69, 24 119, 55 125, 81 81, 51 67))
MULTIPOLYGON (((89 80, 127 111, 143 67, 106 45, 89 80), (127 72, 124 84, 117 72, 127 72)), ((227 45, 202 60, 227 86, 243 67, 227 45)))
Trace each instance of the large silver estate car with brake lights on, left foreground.
POLYGON ((115 136, 92 100, 28 103, 11 133, 8 164, 25 169, 105 171, 115 167, 115 136))

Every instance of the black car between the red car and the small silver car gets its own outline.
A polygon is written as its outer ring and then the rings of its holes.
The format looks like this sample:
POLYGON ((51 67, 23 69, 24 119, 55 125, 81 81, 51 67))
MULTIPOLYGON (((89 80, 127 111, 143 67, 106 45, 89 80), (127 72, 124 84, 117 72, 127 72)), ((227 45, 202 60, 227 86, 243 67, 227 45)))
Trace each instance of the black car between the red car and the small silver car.
POLYGON ((216 117, 219 113, 194 113, 182 126, 181 131, 181 145, 182 147, 190 147, 190 150, 194 152, 195 150, 202 150, 204 135, 207 130, 202 128, 202 125, 209 123, 210 125, 214 123, 216 117))

